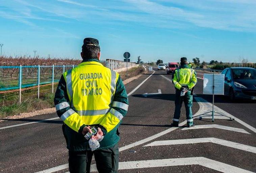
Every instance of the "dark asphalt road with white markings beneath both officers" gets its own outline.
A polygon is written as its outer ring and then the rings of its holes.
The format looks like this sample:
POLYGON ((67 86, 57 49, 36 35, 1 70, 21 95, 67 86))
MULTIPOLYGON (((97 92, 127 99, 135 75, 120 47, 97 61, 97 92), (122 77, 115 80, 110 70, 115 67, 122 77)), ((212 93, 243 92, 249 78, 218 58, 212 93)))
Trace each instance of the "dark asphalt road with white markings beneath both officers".
MULTIPOLYGON (((127 93, 149 76, 128 83, 127 93)), ((120 126, 119 172, 256 172, 256 103, 231 103, 225 96, 216 96, 215 105, 235 116, 234 121, 195 119, 195 128, 201 129, 186 130, 185 123, 171 128, 175 89, 170 79, 165 71, 156 70, 129 96, 129 110, 120 126), (158 90, 161 94, 142 95, 158 90)), ((198 79, 195 94, 206 102, 199 107, 194 99, 194 114, 211 102, 211 96, 202 95, 202 91, 203 80, 198 79)), ((0 171, 68 172, 60 119, 19 126, 55 117, 54 113, 0 123, 0 171), (11 125, 18 126, 2 129, 11 125)), ((185 119, 183 105, 180 123, 185 119)))

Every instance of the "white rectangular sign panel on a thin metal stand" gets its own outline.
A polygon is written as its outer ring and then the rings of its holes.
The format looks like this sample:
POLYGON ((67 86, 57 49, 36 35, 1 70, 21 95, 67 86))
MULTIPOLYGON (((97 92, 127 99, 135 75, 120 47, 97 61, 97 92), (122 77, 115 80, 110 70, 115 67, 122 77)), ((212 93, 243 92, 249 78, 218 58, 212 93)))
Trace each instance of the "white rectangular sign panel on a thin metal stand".
POLYGON ((224 74, 204 74, 203 94, 224 95, 224 74), (213 80, 214 76, 214 80, 213 80), (214 82, 214 83, 213 83, 214 82), (213 91, 214 85, 214 91, 213 91))

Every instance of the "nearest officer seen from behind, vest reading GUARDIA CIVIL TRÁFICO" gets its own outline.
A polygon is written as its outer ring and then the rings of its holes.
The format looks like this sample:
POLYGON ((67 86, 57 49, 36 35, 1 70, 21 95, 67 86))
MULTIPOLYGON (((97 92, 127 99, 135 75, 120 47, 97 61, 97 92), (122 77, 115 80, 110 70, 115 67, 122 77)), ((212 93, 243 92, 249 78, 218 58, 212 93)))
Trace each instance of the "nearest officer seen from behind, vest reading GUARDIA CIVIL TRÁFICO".
POLYGON ((66 71, 59 81, 54 104, 63 120, 71 173, 90 172, 94 154, 100 173, 118 170, 118 126, 128 110, 128 96, 118 73, 100 62, 99 41, 85 38, 78 67, 66 71), (84 135, 98 128, 100 148, 92 151, 84 135))

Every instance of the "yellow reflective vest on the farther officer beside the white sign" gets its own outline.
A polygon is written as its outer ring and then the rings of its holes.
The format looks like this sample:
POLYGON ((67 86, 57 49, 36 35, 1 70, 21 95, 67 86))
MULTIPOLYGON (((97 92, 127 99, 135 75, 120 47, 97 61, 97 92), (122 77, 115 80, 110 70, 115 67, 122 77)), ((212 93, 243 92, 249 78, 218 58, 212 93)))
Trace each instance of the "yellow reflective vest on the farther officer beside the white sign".
POLYGON ((191 68, 176 69, 173 77, 173 84, 179 90, 182 86, 188 86, 188 89, 193 88, 197 84, 195 70, 191 68))

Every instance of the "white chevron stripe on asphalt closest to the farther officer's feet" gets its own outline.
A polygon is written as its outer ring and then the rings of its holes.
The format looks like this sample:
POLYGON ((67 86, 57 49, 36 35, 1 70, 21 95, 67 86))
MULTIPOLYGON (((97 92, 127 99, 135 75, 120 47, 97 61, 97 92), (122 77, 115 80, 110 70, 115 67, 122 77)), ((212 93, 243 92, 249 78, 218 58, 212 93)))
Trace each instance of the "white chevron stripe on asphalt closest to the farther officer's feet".
POLYGON ((222 125, 217 125, 217 124, 197 125, 197 126, 190 127, 190 128, 185 127, 181 130, 209 129, 209 128, 223 129, 223 130, 229 130, 229 131, 234 131, 234 132, 250 134, 249 132, 247 132, 244 129, 229 127, 229 126, 222 126, 222 125))

